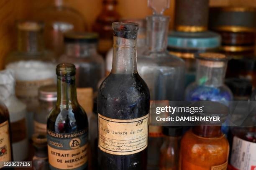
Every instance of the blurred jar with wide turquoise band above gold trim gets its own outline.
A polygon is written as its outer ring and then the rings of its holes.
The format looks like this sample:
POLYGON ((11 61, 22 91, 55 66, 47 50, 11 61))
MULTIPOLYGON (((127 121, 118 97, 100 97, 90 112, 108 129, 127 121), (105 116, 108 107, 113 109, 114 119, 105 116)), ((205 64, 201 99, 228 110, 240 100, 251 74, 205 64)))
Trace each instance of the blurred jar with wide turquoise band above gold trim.
POLYGON ((220 35, 211 31, 169 33, 167 47, 169 53, 182 58, 186 64, 185 86, 195 81, 195 54, 218 51, 220 41, 220 35))

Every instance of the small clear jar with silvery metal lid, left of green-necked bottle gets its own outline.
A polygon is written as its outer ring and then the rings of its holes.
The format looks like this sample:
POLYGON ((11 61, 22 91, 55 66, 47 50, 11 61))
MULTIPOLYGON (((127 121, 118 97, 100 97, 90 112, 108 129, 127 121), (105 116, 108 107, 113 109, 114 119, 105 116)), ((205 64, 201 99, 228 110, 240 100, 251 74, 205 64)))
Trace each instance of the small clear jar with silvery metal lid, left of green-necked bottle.
POLYGON ((46 133, 47 117, 57 101, 57 86, 50 84, 38 89, 39 105, 34 114, 34 133, 46 133))

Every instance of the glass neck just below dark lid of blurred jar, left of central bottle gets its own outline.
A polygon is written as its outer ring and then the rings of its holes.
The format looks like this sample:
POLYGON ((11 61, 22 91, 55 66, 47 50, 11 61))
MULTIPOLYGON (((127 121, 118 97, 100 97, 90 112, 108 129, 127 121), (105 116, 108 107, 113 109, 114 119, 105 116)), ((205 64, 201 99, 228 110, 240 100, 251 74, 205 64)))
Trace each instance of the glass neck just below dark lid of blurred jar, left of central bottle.
POLYGON ((87 57, 92 56, 97 53, 96 44, 87 44, 87 43, 66 43, 65 44, 65 53, 67 56, 73 57, 87 57))

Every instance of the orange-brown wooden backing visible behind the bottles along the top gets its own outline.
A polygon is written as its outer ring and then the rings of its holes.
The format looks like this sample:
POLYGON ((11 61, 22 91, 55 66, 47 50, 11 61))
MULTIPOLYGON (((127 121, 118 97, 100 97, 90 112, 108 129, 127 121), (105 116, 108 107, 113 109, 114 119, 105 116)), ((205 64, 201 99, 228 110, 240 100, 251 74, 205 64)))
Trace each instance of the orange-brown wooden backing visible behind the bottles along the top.
MULTIPOLYGON (((102 0, 63 0, 64 5, 78 10, 84 16, 89 29, 100 13, 102 0)), ((15 26, 18 19, 33 19, 38 10, 51 5, 54 0, 0 0, 0 69, 3 60, 11 50, 15 49, 15 26)), ((123 18, 145 18, 151 14, 147 0, 118 0, 118 11, 123 18)), ((165 15, 171 16, 170 29, 174 18, 174 0, 165 15)), ((254 6, 256 0, 210 0, 211 6, 254 6)))

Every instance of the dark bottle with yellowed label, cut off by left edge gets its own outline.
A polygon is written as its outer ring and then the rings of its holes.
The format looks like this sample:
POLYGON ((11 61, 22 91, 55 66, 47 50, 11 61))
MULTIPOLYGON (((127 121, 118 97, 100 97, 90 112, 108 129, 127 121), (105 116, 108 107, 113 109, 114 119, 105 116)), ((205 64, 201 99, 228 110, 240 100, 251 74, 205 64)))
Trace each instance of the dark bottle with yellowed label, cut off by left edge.
POLYGON ((13 160, 12 154, 9 112, 5 104, 0 101, 0 169, 4 169, 2 161, 13 160))

